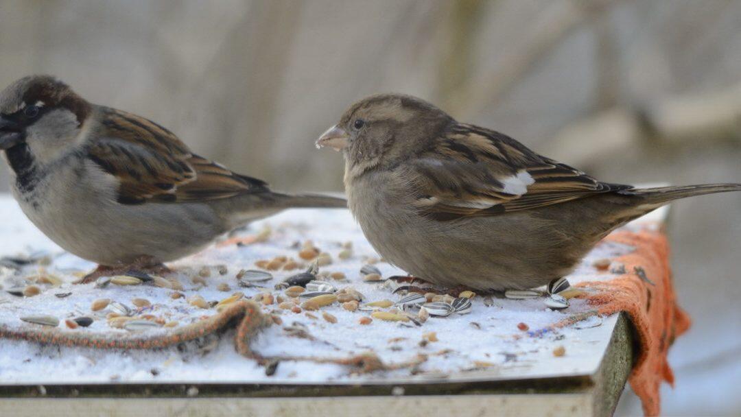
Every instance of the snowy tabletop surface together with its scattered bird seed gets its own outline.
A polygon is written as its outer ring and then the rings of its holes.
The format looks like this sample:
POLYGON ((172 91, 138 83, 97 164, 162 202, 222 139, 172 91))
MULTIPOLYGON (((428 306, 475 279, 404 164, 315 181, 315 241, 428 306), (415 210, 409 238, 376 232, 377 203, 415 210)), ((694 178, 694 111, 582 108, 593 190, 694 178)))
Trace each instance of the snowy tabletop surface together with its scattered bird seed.
POLYGON ((403 271, 378 258, 348 212, 289 210, 170 264, 171 276, 132 271, 73 284, 94 265, 59 250, 20 210, 8 210, 0 233, 18 238, 0 244, 1 327, 53 328, 73 338, 167 338, 252 300, 265 323, 251 350, 281 360, 240 355, 228 327, 154 350, 0 339, 1 384, 440 378, 492 369, 516 374, 543 361, 568 372, 597 343, 583 332, 603 319, 590 316, 569 282, 611 278, 620 272, 611 258, 631 250, 603 242, 568 282, 534 292, 407 293, 398 288, 408 282, 389 279, 403 271), (381 371, 343 364, 364 355, 377 358, 381 371))

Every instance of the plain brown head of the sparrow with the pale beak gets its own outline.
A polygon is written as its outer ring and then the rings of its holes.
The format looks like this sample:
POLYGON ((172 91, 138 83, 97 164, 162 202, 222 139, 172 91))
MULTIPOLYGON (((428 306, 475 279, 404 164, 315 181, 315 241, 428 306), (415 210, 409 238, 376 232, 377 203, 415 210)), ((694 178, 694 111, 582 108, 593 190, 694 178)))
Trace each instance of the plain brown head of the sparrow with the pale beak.
POLYGON ((453 123, 451 116, 422 99, 379 94, 350 106, 316 146, 342 151, 348 167, 359 175, 419 154, 453 123))

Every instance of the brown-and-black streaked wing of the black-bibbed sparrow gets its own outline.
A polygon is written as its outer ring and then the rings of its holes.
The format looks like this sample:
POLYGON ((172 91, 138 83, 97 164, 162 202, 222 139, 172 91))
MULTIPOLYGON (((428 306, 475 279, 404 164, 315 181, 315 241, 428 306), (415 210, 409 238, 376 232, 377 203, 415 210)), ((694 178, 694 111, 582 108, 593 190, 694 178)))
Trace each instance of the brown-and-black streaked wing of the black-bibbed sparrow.
POLYGON ((87 156, 119 180, 119 203, 208 201, 268 190, 259 179, 191 153, 153 121, 110 108, 103 113, 87 156))

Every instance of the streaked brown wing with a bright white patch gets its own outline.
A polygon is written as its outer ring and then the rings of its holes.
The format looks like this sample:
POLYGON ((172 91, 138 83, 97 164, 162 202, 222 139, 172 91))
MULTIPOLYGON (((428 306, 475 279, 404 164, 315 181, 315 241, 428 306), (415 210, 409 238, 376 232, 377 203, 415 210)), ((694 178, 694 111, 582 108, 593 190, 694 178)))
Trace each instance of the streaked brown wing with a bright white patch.
POLYGON ((406 173, 418 210, 439 221, 494 216, 631 188, 539 156, 502 133, 456 124, 406 173))

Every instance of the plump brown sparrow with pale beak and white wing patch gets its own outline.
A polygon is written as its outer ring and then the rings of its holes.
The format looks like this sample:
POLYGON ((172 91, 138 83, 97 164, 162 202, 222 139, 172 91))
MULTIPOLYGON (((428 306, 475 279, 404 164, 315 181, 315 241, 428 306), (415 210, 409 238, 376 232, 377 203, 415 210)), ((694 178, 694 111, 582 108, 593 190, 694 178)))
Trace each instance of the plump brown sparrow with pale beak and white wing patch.
POLYGON ((316 144, 345 156, 348 204, 376 251, 441 287, 539 287, 634 218, 675 199, 741 190, 598 181, 399 94, 353 104, 316 144))

